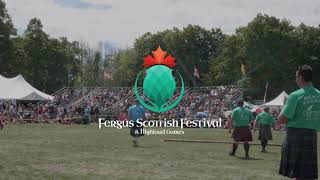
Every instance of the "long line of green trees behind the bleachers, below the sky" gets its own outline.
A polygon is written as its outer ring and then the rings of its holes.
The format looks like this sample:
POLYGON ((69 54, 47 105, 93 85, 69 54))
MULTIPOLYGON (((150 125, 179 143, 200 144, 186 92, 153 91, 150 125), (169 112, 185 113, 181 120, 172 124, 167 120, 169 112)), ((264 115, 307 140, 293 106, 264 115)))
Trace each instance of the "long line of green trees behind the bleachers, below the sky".
POLYGON ((197 86, 236 84, 250 100, 262 99, 268 83, 268 98, 272 98, 282 90, 296 89, 295 70, 309 64, 314 84, 320 87, 320 26, 294 26, 287 19, 258 14, 234 34, 198 25, 146 32, 133 47, 102 57, 85 42, 50 37, 37 18, 17 35, 0 0, 0 74, 22 74, 48 93, 66 86, 133 86, 143 70, 143 58, 158 46, 176 58, 176 69, 188 86, 193 86, 197 68, 197 86))

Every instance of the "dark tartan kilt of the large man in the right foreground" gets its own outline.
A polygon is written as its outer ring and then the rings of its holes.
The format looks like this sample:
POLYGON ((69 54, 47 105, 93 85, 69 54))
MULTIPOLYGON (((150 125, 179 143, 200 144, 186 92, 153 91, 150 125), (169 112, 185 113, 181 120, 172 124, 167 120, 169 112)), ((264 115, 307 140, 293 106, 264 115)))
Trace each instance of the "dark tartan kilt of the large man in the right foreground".
POLYGON ((316 130, 288 128, 281 151, 279 174, 289 178, 318 179, 316 130))

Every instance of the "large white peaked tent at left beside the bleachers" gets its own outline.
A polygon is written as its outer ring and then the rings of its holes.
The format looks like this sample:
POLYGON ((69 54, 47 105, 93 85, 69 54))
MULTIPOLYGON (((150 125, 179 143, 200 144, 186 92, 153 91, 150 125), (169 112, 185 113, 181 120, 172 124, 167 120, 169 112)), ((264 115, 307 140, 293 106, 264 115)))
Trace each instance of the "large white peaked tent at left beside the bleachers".
POLYGON ((32 87, 21 75, 5 78, 0 75, 1 100, 52 100, 53 96, 32 87))

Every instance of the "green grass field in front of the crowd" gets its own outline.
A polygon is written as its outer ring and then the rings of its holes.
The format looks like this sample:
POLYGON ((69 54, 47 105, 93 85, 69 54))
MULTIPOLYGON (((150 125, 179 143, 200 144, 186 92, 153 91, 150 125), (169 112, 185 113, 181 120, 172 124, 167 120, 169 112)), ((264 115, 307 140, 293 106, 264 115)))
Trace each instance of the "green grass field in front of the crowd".
MULTIPOLYGON (((149 135, 131 145, 129 130, 98 125, 17 124, 0 132, 0 179, 285 179, 278 175, 280 147, 163 142, 163 139, 230 141, 224 129, 184 129, 184 135, 149 135)), ((257 133, 254 135, 255 142, 257 133)), ((274 132, 272 143, 281 143, 274 132)))

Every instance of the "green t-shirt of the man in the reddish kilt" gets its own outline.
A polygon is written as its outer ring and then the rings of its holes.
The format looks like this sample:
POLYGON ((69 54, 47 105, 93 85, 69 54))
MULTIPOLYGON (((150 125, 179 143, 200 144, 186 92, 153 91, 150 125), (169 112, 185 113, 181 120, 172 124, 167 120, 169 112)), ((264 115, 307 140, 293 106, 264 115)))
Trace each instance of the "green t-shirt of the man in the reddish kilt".
POLYGON ((253 120, 250 110, 244 107, 237 107, 232 111, 231 118, 233 120, 233 127, 249 126, 253 120))

